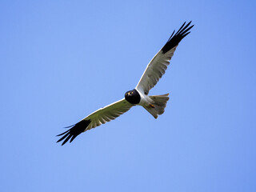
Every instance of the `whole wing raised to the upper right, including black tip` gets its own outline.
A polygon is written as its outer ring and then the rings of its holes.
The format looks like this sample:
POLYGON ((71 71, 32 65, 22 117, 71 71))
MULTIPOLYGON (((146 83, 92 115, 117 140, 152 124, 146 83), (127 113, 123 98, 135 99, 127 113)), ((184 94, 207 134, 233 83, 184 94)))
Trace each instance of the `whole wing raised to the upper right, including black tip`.
POLYGON ((193 27, 190 26, 190 23, 191 22, 185 26, 186 22, 184 22, 176 34, 171 34, 166 45, 159 50, 146 66, 146 70, 136 86, 137 90, 144 94, 149 94, 150 89, 157 84, 160 78, 162 78, 162 75, 166 72, 167 66, 170 64, 170 59, 174 55, 178 43, 182 41, 182 38, 185 38, 187 34, 190 34, 189 30, 193 27))

